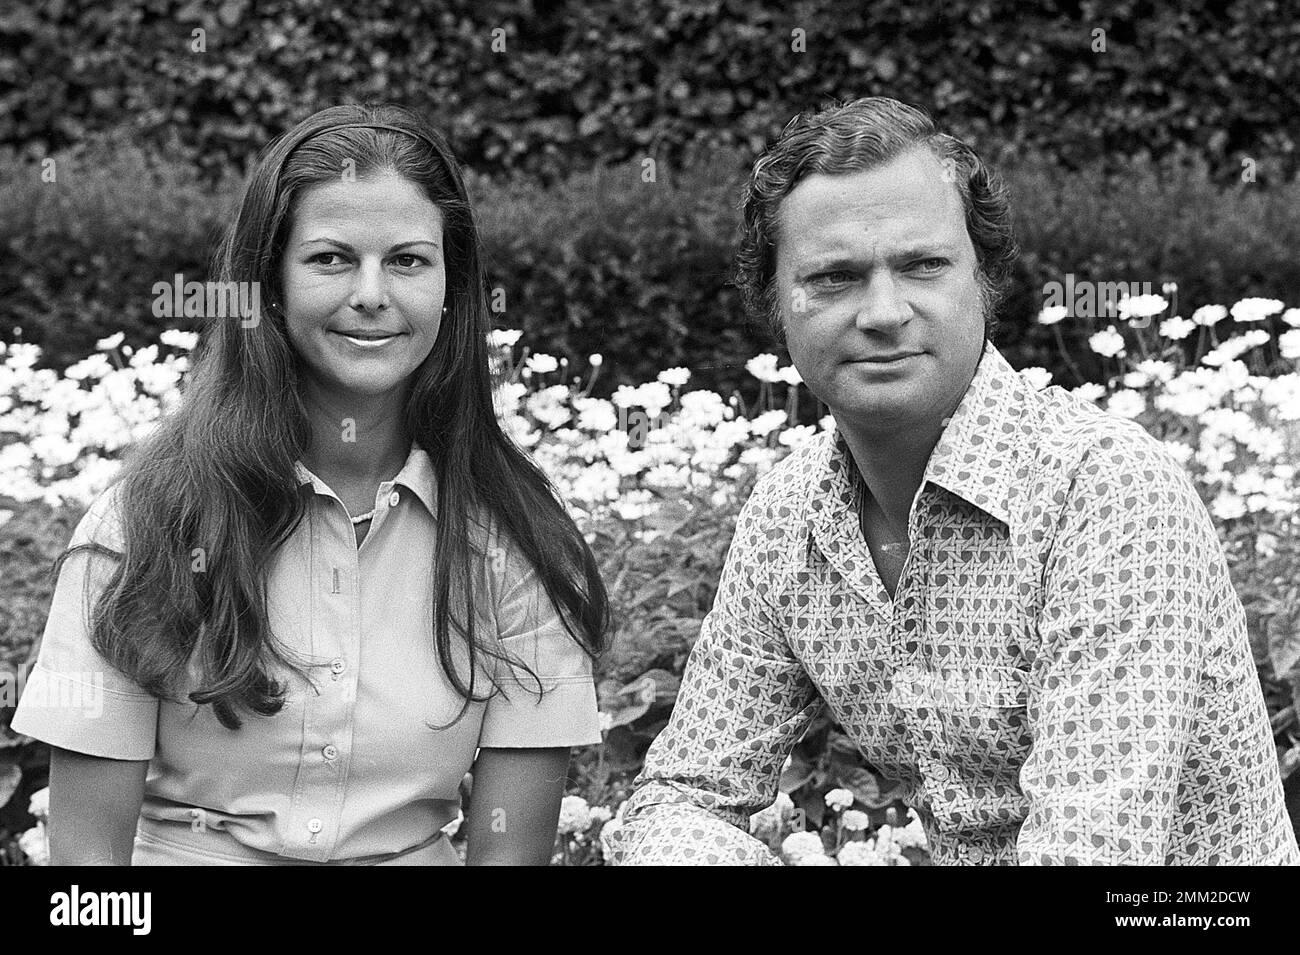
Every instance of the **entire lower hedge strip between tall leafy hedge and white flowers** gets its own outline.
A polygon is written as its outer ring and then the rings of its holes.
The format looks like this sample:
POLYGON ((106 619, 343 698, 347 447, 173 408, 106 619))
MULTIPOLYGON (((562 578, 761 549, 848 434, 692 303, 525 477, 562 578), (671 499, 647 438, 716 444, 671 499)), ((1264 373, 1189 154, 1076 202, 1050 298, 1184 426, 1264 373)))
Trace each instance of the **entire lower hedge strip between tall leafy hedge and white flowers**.
MULTIPOLYGON (((23 160, 0 157, 0 335, 46 351, 65 368, 99 338, 156 340, 155 282, 207 277, 207 260, 238 183, 203 183, 183 161, 109 139, 57 159, 56 183, 23 160)), ((550 188, 474 177, 497 324, 524 344, 581 369, 604 357, 597 394, 690 368, 692 387, 754 399, 744 363, 766 333, 728 283, 741 177, 725 157, 689 170, 638 164, 577 173, 550 188)), ((1024 247, 997 343, 1017 366, 1041 365, 1076 383, 1052 330, 1036 325, 1043 285, 1078 279, 1179 283, 1190 307, 1262 295, 1300 303, 1300 181, 1264 192, 1223 188, 1204 164, 1135 161, 1106 173, 1041 159, 1005 170, 1024 247)), ((1102 366, 1082 324, 1057 326, 1083 374, 1102 366)), ((780 353, 781 350, 776 348, 780 353)), ((784 357, 784 353, 783 353, 784 357)), ((807 408, 809 413, 815 411, 807 408)))

